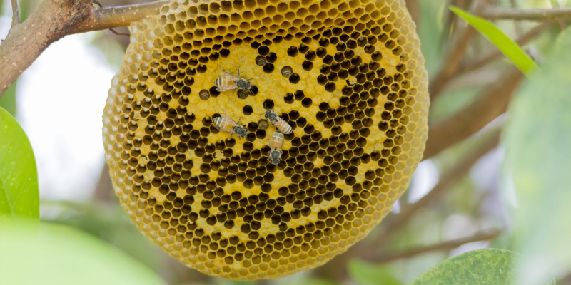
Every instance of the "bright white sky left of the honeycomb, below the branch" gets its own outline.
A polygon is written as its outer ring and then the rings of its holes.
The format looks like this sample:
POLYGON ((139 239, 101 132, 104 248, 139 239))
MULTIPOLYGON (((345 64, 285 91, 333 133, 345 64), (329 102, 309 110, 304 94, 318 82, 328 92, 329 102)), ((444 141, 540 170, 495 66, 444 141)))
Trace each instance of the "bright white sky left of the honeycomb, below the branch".
MULTIPOLYGON (((9 3, 4 1, 0 38, 11 26, 9 3)), ((101 115, 117 67, 89 44, 94 36, 52 43, 16 87, 17 119, 34 148, 42 199, 89 199, 101 175, 101 115)))

